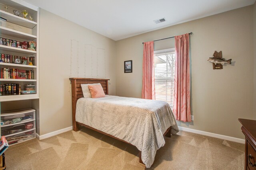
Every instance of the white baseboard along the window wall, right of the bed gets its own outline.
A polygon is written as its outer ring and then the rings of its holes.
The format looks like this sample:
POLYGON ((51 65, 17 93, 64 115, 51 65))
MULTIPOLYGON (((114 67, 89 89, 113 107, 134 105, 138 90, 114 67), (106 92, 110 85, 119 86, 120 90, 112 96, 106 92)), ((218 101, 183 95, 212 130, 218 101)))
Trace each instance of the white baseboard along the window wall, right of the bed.
POLYGON ((219 139, 224 139, 224 140, 227 140, 227 141, 232 141, 232 142, 237 142, 237 143, 244 143, 245 142, 244 139, 230 137, 230 136, 225 136, 225 135, 219 135, 219 134, 216 134, 216 133, 210 133, 210 132, 205 132, 205 131, 199 131, 199 130, 190 129, 190 128, 187 128, 187 127, 180 127, 179 126, 179 129, 181 131, 196 133, 196 134, 210 136, 210 137, 216 137, 216 138, 219 138, 219 139))

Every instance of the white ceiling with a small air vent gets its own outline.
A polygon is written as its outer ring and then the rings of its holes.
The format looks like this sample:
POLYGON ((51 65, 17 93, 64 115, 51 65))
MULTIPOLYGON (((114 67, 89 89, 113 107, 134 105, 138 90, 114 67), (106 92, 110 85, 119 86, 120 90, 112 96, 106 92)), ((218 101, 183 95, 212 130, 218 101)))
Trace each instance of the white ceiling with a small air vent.
MULTIPOLYGON (((255 0, 25 0, 113 40, 254 4, 255 0), (155 24, 153 20, 166 18, 155 24)), ((191 30, 193 31, 193 30, 191 30)))

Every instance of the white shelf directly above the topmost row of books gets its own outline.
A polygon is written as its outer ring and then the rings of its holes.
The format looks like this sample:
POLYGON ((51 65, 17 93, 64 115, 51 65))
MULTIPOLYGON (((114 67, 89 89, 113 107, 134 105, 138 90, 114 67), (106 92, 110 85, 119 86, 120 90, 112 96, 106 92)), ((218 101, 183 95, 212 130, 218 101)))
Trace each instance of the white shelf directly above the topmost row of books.
MULTIPOLYGON (((18 38, 21 38, 21 39, 30 40, 30 41, 33 41, 34 39, 36 39, 36 35, 23 33, 23 32, 16 31, 14 29, 2 27, 2 26, 0 26, 0 33, 4 34, 4 35, 10 35, 12 37, 18 37, 18 38)), ((1 35, 1 37, 3 37, 3 36, 1 35)))

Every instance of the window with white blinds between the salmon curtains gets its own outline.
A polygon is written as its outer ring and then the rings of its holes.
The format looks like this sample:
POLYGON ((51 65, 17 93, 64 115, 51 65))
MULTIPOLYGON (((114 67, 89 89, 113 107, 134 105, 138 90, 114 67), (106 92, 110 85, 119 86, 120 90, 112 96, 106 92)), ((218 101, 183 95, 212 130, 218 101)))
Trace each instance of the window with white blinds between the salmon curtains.
POLYGON ((167 102, 173 107, 175 49, 154 51, 156 100, 167 102))

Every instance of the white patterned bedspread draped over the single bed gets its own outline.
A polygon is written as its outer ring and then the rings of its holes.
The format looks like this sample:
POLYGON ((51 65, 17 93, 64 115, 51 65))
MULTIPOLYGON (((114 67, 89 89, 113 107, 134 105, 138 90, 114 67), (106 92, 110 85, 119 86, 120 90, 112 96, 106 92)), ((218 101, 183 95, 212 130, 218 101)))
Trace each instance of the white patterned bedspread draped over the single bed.
POLYGON ((168 103, 109 95, 80 98, 76 121, 136 146, 147 168, 153 164, 156 150, 164 146, 166 130, 171 126, 172 134, 179 131, 168 103))

